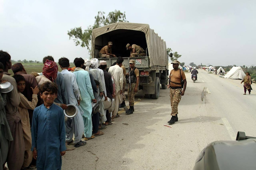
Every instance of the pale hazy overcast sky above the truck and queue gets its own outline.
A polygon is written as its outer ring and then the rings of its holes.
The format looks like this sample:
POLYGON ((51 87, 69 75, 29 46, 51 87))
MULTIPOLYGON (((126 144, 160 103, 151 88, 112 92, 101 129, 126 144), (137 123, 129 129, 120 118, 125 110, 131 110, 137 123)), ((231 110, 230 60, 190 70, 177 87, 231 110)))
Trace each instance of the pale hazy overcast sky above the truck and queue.
POLYGON ((0 0, 0 50, 12 60, 89 58, 67 31, 86 29, 98 11, 115 9, 129 22, 149 24, 187 65, 256 65, 255 0, 0 0))

